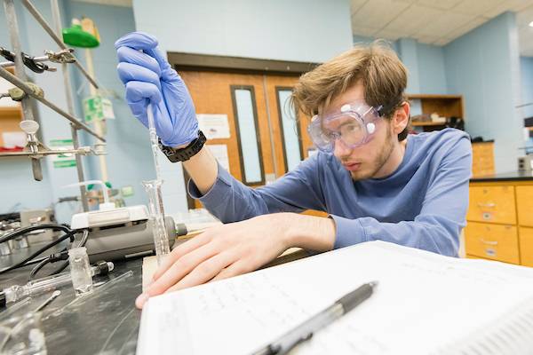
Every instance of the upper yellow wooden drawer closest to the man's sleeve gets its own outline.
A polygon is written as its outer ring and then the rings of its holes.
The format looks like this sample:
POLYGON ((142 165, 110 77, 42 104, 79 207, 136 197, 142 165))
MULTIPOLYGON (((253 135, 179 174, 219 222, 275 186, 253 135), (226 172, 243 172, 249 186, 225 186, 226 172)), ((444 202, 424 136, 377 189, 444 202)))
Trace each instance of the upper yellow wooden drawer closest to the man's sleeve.
POLYGON ((476 222, 516 224, 514 186, 470 186, 466 219, 476 222))

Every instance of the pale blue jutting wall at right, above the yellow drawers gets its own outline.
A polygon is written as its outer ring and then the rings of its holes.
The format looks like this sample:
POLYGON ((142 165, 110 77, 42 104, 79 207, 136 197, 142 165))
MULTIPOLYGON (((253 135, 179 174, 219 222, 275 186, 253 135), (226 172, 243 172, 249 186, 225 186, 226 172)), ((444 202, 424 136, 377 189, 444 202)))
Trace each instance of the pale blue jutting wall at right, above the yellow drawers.
POLYGON ((523 146, 520 63, 516 20, 512 12, 473 29, 444 47, 450 93, 464 95, 465 130, 495 139, 497 172, 516 169, 523 146))

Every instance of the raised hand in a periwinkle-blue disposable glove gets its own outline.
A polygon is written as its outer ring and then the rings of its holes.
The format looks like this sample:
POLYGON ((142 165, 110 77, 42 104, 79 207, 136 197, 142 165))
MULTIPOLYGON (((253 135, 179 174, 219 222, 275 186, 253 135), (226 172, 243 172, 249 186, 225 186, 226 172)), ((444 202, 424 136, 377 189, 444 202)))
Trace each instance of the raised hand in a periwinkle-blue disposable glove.
POLYGON ((131 112, 148 127, 152 104, 155 130, 165 146, 187 146, 198 138, 195 105, 187 86, 157 48, 157 39, 132 32, 115 42, 118 75, 131 112))

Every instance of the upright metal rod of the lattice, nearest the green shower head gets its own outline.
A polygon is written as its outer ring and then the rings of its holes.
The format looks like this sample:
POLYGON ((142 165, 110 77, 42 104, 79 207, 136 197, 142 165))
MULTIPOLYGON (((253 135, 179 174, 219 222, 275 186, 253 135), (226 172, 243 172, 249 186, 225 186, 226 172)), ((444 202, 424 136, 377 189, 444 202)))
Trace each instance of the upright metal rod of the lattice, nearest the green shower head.
MULTIPOLYGON (((61 36, 61 14, 60 14, 60 5, 58 0, 50 0, 50 8, 52 9, 52 23, 54 30, 57 36, 61 36)), ((67 109, 68 113, 74 115, 74 99, 72 98, 71 83, 70 83, 70 73, 68 72, 67 64, 61 64, 61 70, 63 71, 63 84, 65 86, 65 97, 67 98, 67 109)), ((70 132, 72 136, 72 145, 74 149, 80 147, 77 129, 74 124, 70 125, 70 132)), ((80 154, 74 154, 76 156, 76 170, 78 175, 78 181, 81 183, 85 181, 84 177, 84 165, 82 162, 82 157, 80 154)), ((89 203, 87 201, 87 190, 85 185, 80 185, 80 194, 82 196, 82 206, 84 212, 89 210, 89 203)))

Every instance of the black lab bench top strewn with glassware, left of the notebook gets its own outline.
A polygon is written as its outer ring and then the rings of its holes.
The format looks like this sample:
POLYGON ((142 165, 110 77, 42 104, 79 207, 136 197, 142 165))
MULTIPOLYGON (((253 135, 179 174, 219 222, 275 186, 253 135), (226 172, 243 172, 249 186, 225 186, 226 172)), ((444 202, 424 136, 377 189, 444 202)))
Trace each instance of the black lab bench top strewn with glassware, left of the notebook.
MULTIPOLYGON (((0 256, 0 269, 28 256, 38 247, 39 245, 30 246, 19 249, 18 253, 10 256, 0 256)), ((59 264, 44 267, 37 277, 56 269, 59 264)), ((42 330, 48 354, 135 354, 140 321, 140 311, 135 308, 135 298, 141 292, 142 257, 114 264, 113 272, 94 278, 95 284, 104 282, 100 286, 102 289, 94 288, 92 294, 83 296, 81 302, 76 301, 75 304, 68 305, 76 299, 72 284, 58 288, 61 295, 42 311, 42 330), (123 277, 106 287, 105 282, 129 271, 133 272, 131 276, 123 277)), ((33 266, 35 265, 0 275, 0 288, 26 284, 33 266)), ((12 306, 8 304, 6 309, 0 310, 0 321, 35 310, 51 295, 52 291, 33 296, 29 304, 9 316, 4 316, 12 306)))

